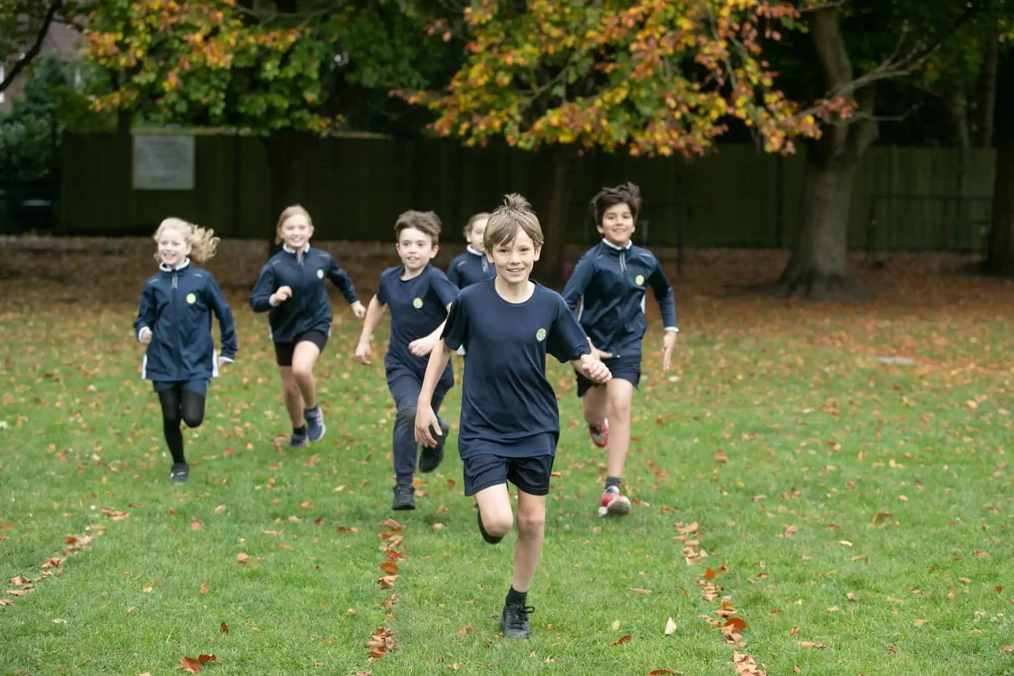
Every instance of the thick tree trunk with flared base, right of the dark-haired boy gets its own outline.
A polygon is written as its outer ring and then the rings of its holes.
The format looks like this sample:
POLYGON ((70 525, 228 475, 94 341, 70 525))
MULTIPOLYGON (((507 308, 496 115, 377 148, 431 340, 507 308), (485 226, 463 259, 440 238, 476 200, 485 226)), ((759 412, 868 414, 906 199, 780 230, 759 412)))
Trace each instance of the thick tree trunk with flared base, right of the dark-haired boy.
POLYGON ((849 90, 852 62, 842 38, 838 5, 810 12, 809 25, 824 84, 859 105, 860 117, 828 125, 807 152, 807 173, 799 205, 792 254, 775 291, 813 300, 866 298, 849 269, 849 206, 856 167, 877 135, 872 115, 876 92, 849 90))

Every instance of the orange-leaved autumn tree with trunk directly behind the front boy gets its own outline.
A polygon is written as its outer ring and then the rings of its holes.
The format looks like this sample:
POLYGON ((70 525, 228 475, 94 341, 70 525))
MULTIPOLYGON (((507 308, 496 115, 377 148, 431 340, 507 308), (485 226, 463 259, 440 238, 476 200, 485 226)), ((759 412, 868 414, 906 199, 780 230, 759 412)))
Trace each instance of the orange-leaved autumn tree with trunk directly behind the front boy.
POLYGON ((551 283, 563 271, 576 149, 701 155, 736 120, 765 150, 791 152, 834 108, 800 110, 762 59, 762 40, 798 20, 785 2, 484 0, 464 17, 464 65, 445 90, 408 97, 438 113, 439 135, 545 149, 547 194, 534 201, 547 230, 540 279, 551 283))

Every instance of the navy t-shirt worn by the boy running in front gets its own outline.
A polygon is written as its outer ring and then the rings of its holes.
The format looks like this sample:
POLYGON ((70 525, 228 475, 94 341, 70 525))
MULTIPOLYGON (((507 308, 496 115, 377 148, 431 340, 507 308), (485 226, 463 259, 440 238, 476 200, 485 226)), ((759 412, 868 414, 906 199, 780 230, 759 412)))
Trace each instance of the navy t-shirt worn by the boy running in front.
POLYGON ((494 279, 461 290, 450 308, 443 339, 463 345, 461 458, 554 455, 560 434, 557 395, 546 378, 546 355, 560 361, 588 354, 588 338, 556 291, 536 283, 524 302, 508 302, 494 279))

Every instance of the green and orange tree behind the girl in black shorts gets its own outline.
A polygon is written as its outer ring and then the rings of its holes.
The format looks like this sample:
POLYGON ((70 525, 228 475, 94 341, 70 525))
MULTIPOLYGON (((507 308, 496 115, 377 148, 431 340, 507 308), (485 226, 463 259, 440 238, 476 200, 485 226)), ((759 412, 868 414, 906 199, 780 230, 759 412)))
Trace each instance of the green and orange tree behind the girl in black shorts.
MULTIPOLYGON (((274 218, 299 201, 316 138, 371 90, 424 86, 446 51, 409 0, 96 0, 85 38, 111 75, 96 110, 259 134, 274 218)), ((386 95, 385 95, 386 97, 386 95)))

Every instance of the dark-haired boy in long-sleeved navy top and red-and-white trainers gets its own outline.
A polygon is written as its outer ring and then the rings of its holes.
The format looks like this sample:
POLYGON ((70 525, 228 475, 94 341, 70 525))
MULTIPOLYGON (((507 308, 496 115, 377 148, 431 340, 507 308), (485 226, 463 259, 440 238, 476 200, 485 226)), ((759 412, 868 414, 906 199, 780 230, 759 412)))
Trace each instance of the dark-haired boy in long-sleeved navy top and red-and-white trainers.
POLYGON ((669 369, 676 344, 676 305, 662 266, 651 252, 631 243, 641 209, 638 187, 626 183, 603 188, 590 206, 602 241, 578 261, 563 295, 571 311, 581 303, 581 326, 612 374, 605 387, 577 375, 577 396, 584 399, 588 433, 606 454, 605 490, 598 514, 627 515, 631 501, 621 493, 620 482, 631 441, 631 402, 641 380, 641 342, 648 325, 644 292, 652 288, 662 313, 664 370, 669 369))

